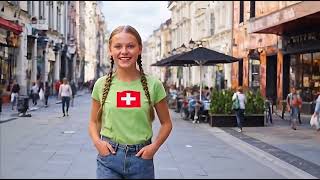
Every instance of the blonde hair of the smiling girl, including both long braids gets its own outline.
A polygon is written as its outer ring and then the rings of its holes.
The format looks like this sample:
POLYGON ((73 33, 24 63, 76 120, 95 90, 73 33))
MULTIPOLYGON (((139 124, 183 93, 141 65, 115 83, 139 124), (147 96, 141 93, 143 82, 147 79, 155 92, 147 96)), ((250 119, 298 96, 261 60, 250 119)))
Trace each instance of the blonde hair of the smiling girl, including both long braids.
MULTIPOLYGON (((127 26, 119 26, 117 27, 116 29, 114 29, 109 37, 109 47, 111 46, 112 44, 112 37, 115 36, 116 34, 119 34, 121 32, 126 32, 126 33, 129 33, 131 35, 133 35, 137 41, 138 41, 138 44, 140 47, 142 47, 142 40, 141 40, 141 36, 139 35, 138 31, 136 29, 134 29, 133 27, 127 25, 127 26)), ((104 103, 107 99, 107 96, 108 96, 108 93, 110 91, 110 86, 111 86, 111 83, 112 83, 112 74, 113 74, 113 66, 114 66, 114 60, 113 60, 113 57, 110 58, 111 60, 111 67, 110 67, 110 71, 107 75, 107 78, 106 78, 106 81, 105 81, 105 84, 104 84, 104 89, 103 89, 103 94, 102 94, 102 102, 101 102, 101 106, 99 108, 99 111, 98 111, 98 122, 101 123, 102 122, 102 119, 101 119, 101 116, 102 116, 102 111, 103 111, 103 106, 104 106, 104 103)), ((141 76, 141 84, 142 84, 142 87, 143 87, 143 90, 144 90, 144 93, 148 99, 148 103, 149 103, 149 115, 150 115, 150 120, 153 121, 154 119, 154 111, 153 111, 153 106, 152 106, 152 102, 151 102, 151 96, 150 96, 150 92, 149 92, 149 88, 148 88, 148 82, 147 82, 147 78, 146 78, 146 75, 143 71, 143 68, 142 68, 142 61, 141 61, 141 55, 138 56, 138 59, 137 59, 137 64, 139 66, 139 70, 140 70, 140 76, 141 76)))

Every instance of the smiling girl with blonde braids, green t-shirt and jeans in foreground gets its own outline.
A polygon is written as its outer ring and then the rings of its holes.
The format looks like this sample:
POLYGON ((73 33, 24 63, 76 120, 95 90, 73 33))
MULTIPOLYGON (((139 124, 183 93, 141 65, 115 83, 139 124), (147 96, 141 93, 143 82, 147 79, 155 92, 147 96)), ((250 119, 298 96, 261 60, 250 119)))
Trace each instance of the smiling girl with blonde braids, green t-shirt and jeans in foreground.
POLYGON ((110 72, 94 85, 89 122, 98 151, 97 178, 153 179, 153 157, 172 129, 165 89, 160 80, 144 74, 142 41, 133 27, 113 30, 109 52, 110 72), (152 142, 153 108, 161 128, 152 142))

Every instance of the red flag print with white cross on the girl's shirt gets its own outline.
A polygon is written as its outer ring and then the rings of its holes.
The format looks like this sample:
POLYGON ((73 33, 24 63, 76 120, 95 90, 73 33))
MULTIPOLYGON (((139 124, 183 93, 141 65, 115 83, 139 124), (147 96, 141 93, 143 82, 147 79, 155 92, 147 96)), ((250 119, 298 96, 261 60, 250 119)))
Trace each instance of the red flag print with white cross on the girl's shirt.
POLYGON ((118 108, 137 108, 141 107, 139 91, 117 92, 118 108))

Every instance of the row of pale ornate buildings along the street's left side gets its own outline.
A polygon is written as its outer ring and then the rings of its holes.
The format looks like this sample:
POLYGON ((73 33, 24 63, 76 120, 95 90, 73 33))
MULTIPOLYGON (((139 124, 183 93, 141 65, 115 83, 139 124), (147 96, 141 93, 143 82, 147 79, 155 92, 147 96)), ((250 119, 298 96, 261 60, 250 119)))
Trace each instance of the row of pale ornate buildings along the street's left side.
MULTIPOLYGON (((107 68, 102 65, 106 23, 101 5, 95 1, 0 2, 3 86, 17 80, 20 94, 28 95, 33 82, 53 87, 64 77, 82 83, 101 76, 99 72, 107 68)), ((6 103, 10 92, 4 94, 6 103)))

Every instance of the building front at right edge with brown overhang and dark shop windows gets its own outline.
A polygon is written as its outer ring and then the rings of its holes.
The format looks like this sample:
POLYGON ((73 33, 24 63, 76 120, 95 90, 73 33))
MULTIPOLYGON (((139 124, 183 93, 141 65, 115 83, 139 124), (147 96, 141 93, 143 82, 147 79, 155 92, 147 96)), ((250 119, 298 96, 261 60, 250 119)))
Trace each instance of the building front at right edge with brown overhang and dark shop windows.
MULTIPOLYGON (((317 1, 278 2, 271 12, 251 19, 248 27, 251 34, 278 37, 273 65, 277 102, 286 98, 290 87, 296 87, 304 101, 302 112, 310 114, 320 91, 319 7, 317 1)), ((269 76, 268 65, 267 62, 267 72, 264 74, 269 76)), ((265 79, 262 78, 268 85, 268 79, 265 79)))

